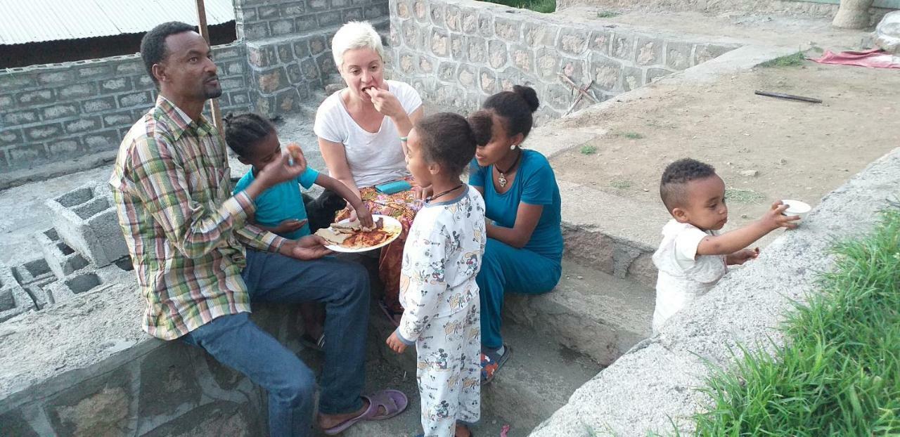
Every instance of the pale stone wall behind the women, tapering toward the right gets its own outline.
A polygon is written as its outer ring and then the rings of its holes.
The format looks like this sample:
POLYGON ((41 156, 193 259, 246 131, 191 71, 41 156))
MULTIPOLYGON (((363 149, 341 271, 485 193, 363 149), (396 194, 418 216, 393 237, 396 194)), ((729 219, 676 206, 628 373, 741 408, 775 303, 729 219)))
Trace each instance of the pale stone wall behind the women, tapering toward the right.
MULTIPOLYGON (((576 99, 560 74, 579 86, 592 80, 603 101, 737 47, 558 22, 473 0, 391 0, 393 77, 425 100, 462 111, 525 84, 542 101, 539 117, 558 117, 576 99)), ((576 109, 588 104, 582 99, 576 109)))

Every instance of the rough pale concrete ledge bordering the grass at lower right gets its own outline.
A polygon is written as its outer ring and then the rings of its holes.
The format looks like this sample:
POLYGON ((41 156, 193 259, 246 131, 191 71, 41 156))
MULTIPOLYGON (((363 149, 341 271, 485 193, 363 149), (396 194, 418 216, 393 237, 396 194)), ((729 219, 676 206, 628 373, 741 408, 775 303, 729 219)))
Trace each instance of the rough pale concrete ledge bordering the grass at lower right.
POLYGON ((725 276, 718 286, 662 332, 579 388, 569 403, 531 434, 536 437, 671 433, 670 419, 690 433, 689 416, 703 411, 704 362, 730 366, 736 344, 761 347, 783 338, 775 329, 793 302, 815 292, 819 272, 833 263, 834 236, 868 231, 878 210, 898 192, 900 149, 831 192, 796 231, 785 232, 761 257, 725 276))

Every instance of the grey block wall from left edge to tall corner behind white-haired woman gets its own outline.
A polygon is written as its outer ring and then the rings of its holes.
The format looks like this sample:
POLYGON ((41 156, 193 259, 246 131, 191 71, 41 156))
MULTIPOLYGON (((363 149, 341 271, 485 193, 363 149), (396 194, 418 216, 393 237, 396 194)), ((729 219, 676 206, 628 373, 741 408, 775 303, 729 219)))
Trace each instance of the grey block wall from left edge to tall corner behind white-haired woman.
MULTIPOLYGON (((236 0, 235 17, 239 40, 213 47, 222 112, 275 116, 318 105, 339 80, 331 36, 351 20, 386 31, 388 2, 236 0)), ((156 95, 139 55, 0 71, 0 172, 112 157, 156 95)))

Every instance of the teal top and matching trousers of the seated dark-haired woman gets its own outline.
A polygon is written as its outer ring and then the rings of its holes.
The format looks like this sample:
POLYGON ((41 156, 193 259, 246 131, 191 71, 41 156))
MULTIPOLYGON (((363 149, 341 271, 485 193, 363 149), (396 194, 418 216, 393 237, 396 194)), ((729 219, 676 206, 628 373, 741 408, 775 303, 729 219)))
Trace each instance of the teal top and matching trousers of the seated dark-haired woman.
POLYGON ((503 345, 500 310, 503 294, 539 294, 553 290, 563 273, 562 201, 554 169, 544 155, 523 150, 518 171, 507 192, 494 187, 493 165, 480 167, 474 161, 469 184, 484 192, 485 217, 500 227, 514 227, 519 203, 541 205, 544 210, 535 231, 521 249, 488 238, 482 270, 476 281, 482 297, 482 349, 503 345))

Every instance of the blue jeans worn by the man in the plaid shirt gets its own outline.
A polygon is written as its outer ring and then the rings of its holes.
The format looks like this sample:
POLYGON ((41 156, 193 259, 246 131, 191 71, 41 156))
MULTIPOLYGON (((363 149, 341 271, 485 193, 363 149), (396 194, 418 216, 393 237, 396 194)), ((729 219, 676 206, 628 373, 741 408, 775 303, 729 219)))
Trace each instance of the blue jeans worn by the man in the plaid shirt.
MULTIPOLYGON (((365 269, 333 258, 300 261, 247 249, 247 267, 241 276, 254 302, 325 304, 328 340, 319 411, 336 415, 360 409, 369 325, 365 269)), ((315 375, 247 313, 218 317, 182 338, 266 389, 270 435, 311 434, 315 375)))

